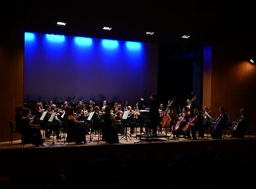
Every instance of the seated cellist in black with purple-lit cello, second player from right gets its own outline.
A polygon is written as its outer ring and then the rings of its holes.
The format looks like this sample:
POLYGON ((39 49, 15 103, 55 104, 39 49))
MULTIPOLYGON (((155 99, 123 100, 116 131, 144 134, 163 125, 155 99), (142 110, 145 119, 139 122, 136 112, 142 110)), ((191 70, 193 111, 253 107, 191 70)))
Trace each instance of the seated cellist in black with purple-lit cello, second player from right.
POLYGON ((215 120, 214 125, 212 126, 211 137, 215 139, 222 138, 222 129, 225 127, 227 120, 229 119, 229 115, 226 113, 228 110, 225 110, 224 107, 219 108, 219 118, 215 120))

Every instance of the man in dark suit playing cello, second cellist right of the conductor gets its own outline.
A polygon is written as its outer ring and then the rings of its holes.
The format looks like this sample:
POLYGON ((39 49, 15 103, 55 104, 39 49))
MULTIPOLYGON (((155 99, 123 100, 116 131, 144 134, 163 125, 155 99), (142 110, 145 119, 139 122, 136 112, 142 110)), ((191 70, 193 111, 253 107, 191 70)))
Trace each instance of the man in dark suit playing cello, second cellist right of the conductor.
MULTIPOLYGON (((190 129, 191 129, 192 140, 197 140, 196 131, 198 131, 199 137, 201 138, 204 137, 203 125, 202 125, 203 116, 199 112, 198 108, 194 108, 194 116, 196 117, 196 121, 190 124, 191 126, 190 129)), ((190 137, 190 132, 188 132, 188 135, 190 137)))

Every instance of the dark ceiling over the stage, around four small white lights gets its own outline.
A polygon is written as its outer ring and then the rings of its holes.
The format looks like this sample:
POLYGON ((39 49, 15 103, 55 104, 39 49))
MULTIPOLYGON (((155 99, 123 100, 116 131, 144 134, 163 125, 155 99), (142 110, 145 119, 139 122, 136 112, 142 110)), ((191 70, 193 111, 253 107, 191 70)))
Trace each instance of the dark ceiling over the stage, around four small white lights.
POLYGON ((12 18, 22 19, 27 32, 93 38, 197 45, 219 37, 243 37, 254 25, 252 6, 219 1, 80 1, 9 2, 12 18), (56 26, 57 21, 66 26, 56 26), (112 27, 103 31, 103 26, 112 27), (145 35, 154 31, 153 35, 145 35), (183 34, 190 35, 183 39, 183 34))

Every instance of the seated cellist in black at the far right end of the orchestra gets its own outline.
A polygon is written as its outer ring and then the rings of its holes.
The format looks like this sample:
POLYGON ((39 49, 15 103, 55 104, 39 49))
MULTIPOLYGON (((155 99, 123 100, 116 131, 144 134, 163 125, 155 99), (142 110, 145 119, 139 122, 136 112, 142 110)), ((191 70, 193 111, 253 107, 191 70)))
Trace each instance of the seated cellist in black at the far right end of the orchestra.
POLYGON ((247 112, 244 108, 240 110, 240 113, 241 113, 241 116, 235 122, 232 122, 231 136, 237 137, 237 138, 244 138, 246 133, 246 128, 248 128, 249 126, 249 119, 247 116, 247 112), (234 124, 237 124, 237 125, 234 125, 234 124))

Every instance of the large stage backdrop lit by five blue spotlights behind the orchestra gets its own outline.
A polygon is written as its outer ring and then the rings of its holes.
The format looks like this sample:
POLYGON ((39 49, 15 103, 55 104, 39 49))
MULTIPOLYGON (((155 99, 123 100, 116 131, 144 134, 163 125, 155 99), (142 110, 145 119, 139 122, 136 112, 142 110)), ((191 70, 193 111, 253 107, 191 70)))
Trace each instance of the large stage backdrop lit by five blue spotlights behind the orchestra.
POLYGON ((133 105, 157 92, 158 44, 25 33, 24 98, 133 105))

